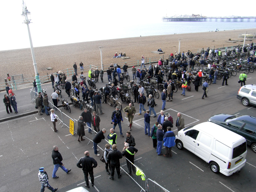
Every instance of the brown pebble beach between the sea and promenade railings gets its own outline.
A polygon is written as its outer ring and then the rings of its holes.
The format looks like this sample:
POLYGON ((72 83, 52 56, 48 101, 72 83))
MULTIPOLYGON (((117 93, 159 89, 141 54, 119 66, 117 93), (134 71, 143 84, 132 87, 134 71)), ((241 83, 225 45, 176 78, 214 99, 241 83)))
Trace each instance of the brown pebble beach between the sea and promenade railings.
MULTIPOLYGON (((146 58, 162 56, 151 51, 157 51, 161 48, 165 54, 175 53, 178 51, 179 42, 181 38, 180 51, 187 52, 190 50, 193 53, 204 47, 205 49, 236 46, 243 42, 228 43, 228 39, 238 40, 240 33, 255 33, 256 29, 243 29, 231 31, 218 32, 204 32, 204 33, 187 33, 187 34, 173 34, 173 35, 159 35, 147 37, 134 37, 123 39, 111 39, 101 41, 91 41, 82 43, 72 43, 64 45, 54 45, 45 47, 35 47, 35 57, 37 69, 40 76, 50 74, 59 70, 72 68, 74 62, 82 61, 86 65, 95 65, 101 68, 100 50, 99 46, 104 46, 102 49, 102 58, 104 67, 108 67, 111 63, 122 63, 140 60, 141 55, 146 58), (122 60, 113 58, 117 52, 126 53, 130 59, 122 60), (47 70, 47 67, 52 67, 52 70, 47 70)), ((240 38, 240 40, 243 40, 240 38)), ((250 41, 246 41, 249 43, 250 41)), ((4 82, 7 73, 10 75, 23 74, 24 78, 34 77, 34 67, 30 48, 0 51, 1 58, 1 76, 0 82, 4 82)), ((80 70, 78 70, 80 71, 80 70)))

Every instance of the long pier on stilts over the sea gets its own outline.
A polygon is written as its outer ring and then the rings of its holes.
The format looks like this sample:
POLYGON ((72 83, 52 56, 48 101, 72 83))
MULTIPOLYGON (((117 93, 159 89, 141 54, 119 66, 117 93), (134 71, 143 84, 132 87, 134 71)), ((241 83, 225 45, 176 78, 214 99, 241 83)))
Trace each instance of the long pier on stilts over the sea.
POLYGON ((256 17, 162 17, 162 21, 256 22, 256 17))

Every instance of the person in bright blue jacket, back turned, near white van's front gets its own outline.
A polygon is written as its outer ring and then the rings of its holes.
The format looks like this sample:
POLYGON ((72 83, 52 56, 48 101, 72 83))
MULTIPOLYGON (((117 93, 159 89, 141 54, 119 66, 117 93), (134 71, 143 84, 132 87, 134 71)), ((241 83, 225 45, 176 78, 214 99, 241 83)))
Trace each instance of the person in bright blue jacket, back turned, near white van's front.
POLYGON ((164 157, 172 156, 172 147, 175 146, 175 134, 171 131, 171 127, 167 127, 167 132, 164 134, 163 141, 165 146, 164 157))

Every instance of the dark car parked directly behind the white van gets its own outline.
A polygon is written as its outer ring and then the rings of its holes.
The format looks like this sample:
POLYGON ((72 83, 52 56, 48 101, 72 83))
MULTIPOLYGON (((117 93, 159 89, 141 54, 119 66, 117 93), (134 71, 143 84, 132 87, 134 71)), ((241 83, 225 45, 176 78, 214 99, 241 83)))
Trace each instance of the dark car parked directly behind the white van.
POLYGON ((249 115, 234 116, 228 114, 213 115, 208 121, 233 131, 246 139, 254 153, 256 153, 256 117, 249 115))

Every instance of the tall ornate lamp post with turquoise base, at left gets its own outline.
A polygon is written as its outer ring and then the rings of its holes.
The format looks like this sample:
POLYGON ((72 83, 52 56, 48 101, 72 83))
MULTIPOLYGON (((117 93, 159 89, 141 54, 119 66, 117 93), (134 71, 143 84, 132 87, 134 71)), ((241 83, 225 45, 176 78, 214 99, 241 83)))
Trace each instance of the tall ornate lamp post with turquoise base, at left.
POLYGON ((36 66, 36 57, 35 57, 35 53, 34 53, 34 47, 32 44, 32 39, 31 39, 31 34, 30 34, 30 29, 29 29, 29 23, 31 23, 31 19, 28 18, 28 16, 30 17, 30 12, 27 10, 27 7, 24 3, 24 1, 22 1, 22 14, 24 17, 24 23, 27 24, 28 27, 28 35, 29 35, 29 41, 30 41, 30 49, 31 49, 31 54, 32 54, 32 59, 33 59, 33 65, 34 65, 34 70, 35 70, 35 78, 36 78, 36 86, 37 86, 37 90, 38 92, 42 92, 42 87, 41 87, 41 82, 39 79, 39 73, 37 71, 37 66, 36 66))

